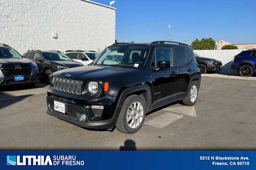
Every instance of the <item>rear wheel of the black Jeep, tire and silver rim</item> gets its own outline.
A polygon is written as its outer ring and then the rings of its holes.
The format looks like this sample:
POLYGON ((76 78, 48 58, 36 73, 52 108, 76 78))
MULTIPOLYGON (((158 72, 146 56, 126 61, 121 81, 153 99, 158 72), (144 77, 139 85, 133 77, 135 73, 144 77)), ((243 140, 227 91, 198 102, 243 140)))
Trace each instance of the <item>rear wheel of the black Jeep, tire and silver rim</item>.
POLYGON ((198 84, 192 82, 188 91, 188 96, 182 100, 183 104, 186 106, 194 106, 198 98, 198 84))

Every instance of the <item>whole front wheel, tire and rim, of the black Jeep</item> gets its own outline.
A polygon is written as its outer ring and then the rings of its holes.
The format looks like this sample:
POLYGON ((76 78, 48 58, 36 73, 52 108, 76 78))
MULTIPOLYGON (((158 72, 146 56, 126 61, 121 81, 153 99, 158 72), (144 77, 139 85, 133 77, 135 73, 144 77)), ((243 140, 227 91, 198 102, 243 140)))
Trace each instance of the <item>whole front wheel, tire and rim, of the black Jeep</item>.
POLYGON ((116 128, 123 133, 136 133, 144 123, 146 105, 144 98, 138 95, 128 96, 116 121, 116 128))

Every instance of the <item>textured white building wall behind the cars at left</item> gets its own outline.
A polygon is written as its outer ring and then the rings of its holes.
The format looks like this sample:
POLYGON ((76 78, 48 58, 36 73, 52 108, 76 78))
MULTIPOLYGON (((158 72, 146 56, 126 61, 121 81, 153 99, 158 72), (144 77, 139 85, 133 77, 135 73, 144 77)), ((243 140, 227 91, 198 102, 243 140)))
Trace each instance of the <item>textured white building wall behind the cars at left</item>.
POLYGON ((102 51, 115 42, 115 16, 115 8, 86 0, 0 0, 0 43, 21 54, 29 49, 102 51))

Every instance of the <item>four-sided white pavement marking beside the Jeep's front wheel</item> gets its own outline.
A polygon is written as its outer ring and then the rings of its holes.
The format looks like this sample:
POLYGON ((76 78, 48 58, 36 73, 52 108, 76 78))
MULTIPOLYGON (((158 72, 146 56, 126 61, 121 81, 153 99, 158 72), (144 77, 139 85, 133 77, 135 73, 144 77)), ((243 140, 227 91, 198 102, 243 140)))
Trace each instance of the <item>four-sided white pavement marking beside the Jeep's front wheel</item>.
POLYGON ((176 115, 167 112, 158 117, 146 121, 145 124, 161 129, 182 117, 182 115, 176 115))

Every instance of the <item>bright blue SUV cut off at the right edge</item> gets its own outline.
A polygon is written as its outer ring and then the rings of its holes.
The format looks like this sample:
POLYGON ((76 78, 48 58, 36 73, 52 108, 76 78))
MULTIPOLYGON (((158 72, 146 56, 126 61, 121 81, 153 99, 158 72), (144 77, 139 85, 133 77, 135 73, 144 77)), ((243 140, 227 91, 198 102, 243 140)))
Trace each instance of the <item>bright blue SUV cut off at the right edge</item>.
POLYGON ((238 74, 250 77, 256 72, 256 49, 242 51, 234 57, 231 68, 238 70, 238 74))

